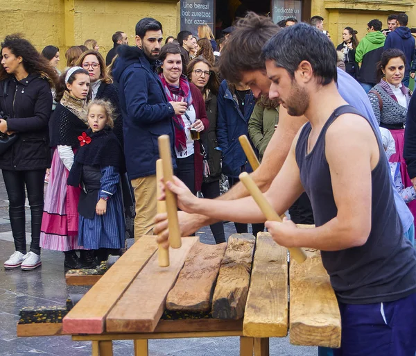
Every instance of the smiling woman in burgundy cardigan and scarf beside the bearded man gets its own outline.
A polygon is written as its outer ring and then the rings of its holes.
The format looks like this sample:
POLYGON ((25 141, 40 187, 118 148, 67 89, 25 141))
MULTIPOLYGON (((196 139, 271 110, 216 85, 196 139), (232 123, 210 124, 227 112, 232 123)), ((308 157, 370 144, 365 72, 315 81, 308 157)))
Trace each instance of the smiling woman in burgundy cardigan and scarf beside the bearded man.
POLYGON ((202 185, 199 135, 209 126, 204 99, 200 90, 193 83, 189 83, 187 77, 182 74, 184 60, 177 44, 165 44, 160 51, 159 60, 162 61, 159 77, 168 101, 187 103, 184 115, 173 117, 177 158, 175 174, 193 194, 196 194, 202 185))

